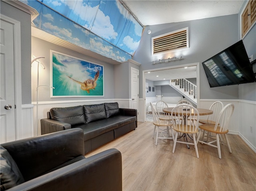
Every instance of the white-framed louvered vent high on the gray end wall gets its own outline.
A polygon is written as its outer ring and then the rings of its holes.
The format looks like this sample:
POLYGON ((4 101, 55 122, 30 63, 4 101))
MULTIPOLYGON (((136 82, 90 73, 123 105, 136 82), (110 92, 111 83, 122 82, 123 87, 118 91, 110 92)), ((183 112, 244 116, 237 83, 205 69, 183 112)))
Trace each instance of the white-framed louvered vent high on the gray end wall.
POLYGON ((188 28, 152 38, 152 55, 188 47, 188 28))

